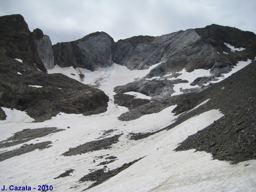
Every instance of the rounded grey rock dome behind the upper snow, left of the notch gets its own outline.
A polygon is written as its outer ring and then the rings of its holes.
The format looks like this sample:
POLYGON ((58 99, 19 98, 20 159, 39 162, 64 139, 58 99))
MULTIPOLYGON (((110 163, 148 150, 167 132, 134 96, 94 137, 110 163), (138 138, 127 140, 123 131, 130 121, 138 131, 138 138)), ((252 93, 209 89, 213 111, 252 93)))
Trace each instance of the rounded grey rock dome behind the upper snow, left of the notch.
POLYGON ((54 65, 73 66, 94 71, 112 65, 114 40, 104 32, 96 32, 72 42, 53 45, 54 65))

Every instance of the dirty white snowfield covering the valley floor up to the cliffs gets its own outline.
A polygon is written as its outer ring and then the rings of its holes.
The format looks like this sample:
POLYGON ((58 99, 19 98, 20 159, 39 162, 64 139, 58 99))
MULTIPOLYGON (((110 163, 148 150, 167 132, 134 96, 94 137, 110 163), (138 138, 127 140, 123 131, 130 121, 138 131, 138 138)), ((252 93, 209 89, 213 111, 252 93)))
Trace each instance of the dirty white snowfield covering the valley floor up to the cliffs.
MULTIPOLYGON (((124 66, 113 64, 111 67, 99 68, 94 72, 86 69, 60 68, 58 66, 48 70, 48 73, 63 73, 82 83, 97 85, 98 88, 110 96, 108 110, 105 113, 91 116, 59 113, 51 120, 33 123, 34 119, 30 118, 25 112, 3 108, 7 119, 0 121, 0 140, 5 140, 11 137, 13 133, 28 128, 57 127, 65 130, 26 142, 27 144, 35 144, 52 141, 52 144, 50 144, 52 147, 50 148, 36 149, 0 162, 1 187, 3 185, 28 185, 31 186, 32 191, 33 188, 36 188, 34 190, 36 191, 38 185, 47 184, 52 185, 53 191, 57 192, 80 192, 89 187, 92 182, 80 183, 78 180, 90 173, 90 170, 103 168, 104 165, 96 165, 106 161, 105 157, 116 156, 114 162, 107 164, 106 171, 121 167, 124 163, 132 162, 135 159, 144 158, 102 184, 88 189, 88 192, 256 191, 256 160, 231 165, 229 162, 212 160, 212 155, 206 152, 194 152, 193 149, 173 151, 178 147, 178 143, 185 140, 189 135, 204 129, 213 121, 222 117, 224 114, 217 109, 191 117, 168 131, 158 132, 142 140, 129 140, 128 135, 131 132, 146 133, 160 130, 174 123, 178 118, 172 113, 176 105, 165 108, 159 113, 144 115, 132 121, 123 122, 117 118, 128 109, 114 104, 112 100, 113 94, 115 94, 113 88, 146 76, 153 67, 145 70, 129 70, 124 66), (78 74, 80 73, 85 75, 84 80, 79 79, 78 74), (67 128, 68 126, 70 128, 67 128), (119 137, 119 141, 112 145, 112 148, 76 156, 61 155, 69 148, 75 148, 92 140, 99 140, 98 138, 103 136, 103 132, 110 129, 114 131, 106 137, 123 133, 119 137), (103 158, 100 158, 100 156, 103 156, 103 158), (74 169, 70 176, 54 179, 69 169, 74 169)), ((191 82, 199 74, 209 75, 209 71, 198 69, 188 73, 182 70, 182 75, 178 78, 187 79, 191 82)), ((142 97, 138 93, 133 94, 142 97)), ((207 101, 202 102, 196 108, 204 105, 207 101)), ((20 148, 22 145, 23 143, 1 148, 0 153, 5 152, 5 150, 10 151, 20 148)))

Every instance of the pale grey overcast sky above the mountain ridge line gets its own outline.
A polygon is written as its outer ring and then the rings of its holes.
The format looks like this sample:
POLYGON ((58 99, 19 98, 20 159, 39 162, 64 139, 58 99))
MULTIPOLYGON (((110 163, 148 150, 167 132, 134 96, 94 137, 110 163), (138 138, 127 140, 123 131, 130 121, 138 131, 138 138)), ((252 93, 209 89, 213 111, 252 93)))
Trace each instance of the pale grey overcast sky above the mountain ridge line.
POLYGON ((52 44, 104 31, 115 41, 213 23, 256 34, 256 0, 0 0, 0 16, 21 14, 52 44))

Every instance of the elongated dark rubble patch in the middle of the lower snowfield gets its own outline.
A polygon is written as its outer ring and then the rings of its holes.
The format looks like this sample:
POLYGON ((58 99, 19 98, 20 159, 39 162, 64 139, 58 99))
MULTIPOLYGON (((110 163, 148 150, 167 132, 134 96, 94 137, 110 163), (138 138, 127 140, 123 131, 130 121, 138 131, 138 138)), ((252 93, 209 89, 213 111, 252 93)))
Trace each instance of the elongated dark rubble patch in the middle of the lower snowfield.
POLYGON ((117 143, 118 138, 121 135, 123 135, 123 133, 119 134, 119 135, 114 135, 112 137, 108 137, 105 139, 95 140, 95 141, 90 141, 90 142, 84 143, 82 145, 77 146, 76 148, 70 148, 69 151, 63 153, 62 155, 72 156, 72 155, 87 153, 90 151, 97 151, 100 149, 109 149, 109 148, 111 148, 112 144, 117 143))

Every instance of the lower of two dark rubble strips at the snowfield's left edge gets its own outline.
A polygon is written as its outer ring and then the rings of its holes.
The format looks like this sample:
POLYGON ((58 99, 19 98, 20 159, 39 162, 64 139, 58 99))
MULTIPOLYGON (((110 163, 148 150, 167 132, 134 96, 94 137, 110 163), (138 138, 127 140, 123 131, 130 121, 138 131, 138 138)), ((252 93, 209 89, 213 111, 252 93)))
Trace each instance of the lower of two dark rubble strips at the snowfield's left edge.
POLYGON ((0 153, 0 161, 4 161, 5 159, 9 159, 14 156, 19 156, 31 151, 34 151, 35 149, 45 149, 52 147, 51 144, 52 141, 44 141, 41 143, 36 144, 30 144, 30 145, 23 145, 19 149, 14 149, 12 151, 6 151, 4 153, 0 153))

